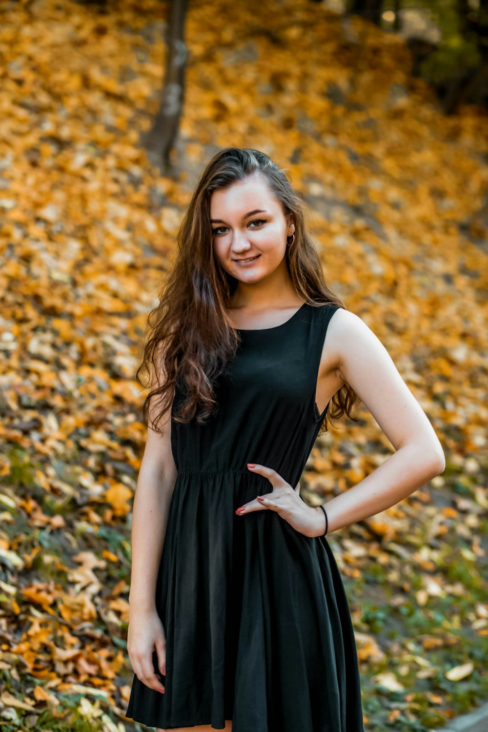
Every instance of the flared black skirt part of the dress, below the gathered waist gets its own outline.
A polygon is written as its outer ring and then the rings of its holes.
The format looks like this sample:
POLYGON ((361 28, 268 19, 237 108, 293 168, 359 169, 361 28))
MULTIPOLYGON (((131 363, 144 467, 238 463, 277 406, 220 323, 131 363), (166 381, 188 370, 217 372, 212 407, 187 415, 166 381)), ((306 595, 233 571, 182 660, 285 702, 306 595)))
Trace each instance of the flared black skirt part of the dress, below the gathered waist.
POLYGON ((270 509, 235 514, 270 492, 249 471, 179 472, 156 587, 165 694, 134 675, 127 717, 167 730, 232 720, 233 732, 364 732, 353 625, 326 537, 270 509))

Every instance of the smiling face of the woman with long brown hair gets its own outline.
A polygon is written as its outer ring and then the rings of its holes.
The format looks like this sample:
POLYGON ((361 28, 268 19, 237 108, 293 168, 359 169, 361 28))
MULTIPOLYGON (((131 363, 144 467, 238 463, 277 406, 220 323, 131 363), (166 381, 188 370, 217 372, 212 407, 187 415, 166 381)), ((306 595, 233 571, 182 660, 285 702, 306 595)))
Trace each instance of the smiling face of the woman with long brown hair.
POLYGON ((295 226, 263 176, 248 176, 214 191, 210 220, 214 254, 236 280, 253 283, 286 266, 286 239, 295 226))

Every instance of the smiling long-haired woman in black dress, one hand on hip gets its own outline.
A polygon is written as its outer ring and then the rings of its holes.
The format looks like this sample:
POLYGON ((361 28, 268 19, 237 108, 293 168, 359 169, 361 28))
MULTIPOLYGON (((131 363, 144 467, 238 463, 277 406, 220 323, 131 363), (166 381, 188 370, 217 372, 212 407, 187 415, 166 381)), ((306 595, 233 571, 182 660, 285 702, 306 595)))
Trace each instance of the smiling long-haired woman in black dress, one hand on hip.
POLYGON ((440 443, 386 349, 326 285, 299 195, 269 157, 218 152, 178 243, 138 369, 152 381, 127 717, 158 731, 362 732, 325 534, 440 474, 440 443), (358 397, 396 452, 309 507, 299 479, 329 405, 352 417, 358 397))

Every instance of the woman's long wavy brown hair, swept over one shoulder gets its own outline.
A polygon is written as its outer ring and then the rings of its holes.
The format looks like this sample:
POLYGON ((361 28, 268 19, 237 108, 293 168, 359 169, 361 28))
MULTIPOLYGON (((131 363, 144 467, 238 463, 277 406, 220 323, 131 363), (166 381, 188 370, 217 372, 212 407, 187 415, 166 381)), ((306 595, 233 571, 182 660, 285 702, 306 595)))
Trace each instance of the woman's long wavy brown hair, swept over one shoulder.
MULTIPOLYGON (((310 305, 334 303, 347 309, 326 284, 315 242, 307 231, 305 206, 287 173, 265 153, 227 147, 214 155, 200 173, 200 179, 177 234, 177 253, 159 294, 159 304, 149 313, 146 333, 140 346, 142 362, 135 378, 140 386, 150 386, 143 403, 143 419, 153 430, 163 433, 159 422, 172 407, 176 381, 184 388, 184 400, 173 414, 178 422, 195 418, 203 424, 218 406, 214 381, 236 354, 239 333, 230 326, 226 307, 238 280, 220 266, 214 255, 210 224, 210 200, 214 190, 222 190, 254 174, 263 176, 283 214, 293 214, 295 238, 286 247, 290 279, 297 294, 310 305), (140 373, 146 372, 144 383, 140 373), (153 403, 153 397, 157 403, 153 403)), ((358 401, 345 384, 331 399, 327 418, 342 414, 353 417, 358 401)))

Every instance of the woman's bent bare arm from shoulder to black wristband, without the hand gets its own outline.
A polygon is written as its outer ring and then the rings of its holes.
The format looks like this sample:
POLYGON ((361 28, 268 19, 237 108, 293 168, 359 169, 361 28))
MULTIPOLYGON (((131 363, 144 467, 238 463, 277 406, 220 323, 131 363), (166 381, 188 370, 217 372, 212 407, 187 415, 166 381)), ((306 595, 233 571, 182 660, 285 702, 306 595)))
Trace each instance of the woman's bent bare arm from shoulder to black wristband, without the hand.
MULTIPOLYGON (((337 351, 342 381, 354 389, 396 452, 353 488, 324 504, 328 534, 394 506, 446 467, 427 415, 367 324, 342 310, 329 329, 329 346, 337 351)), ((326 520, 320 507, 315 510, 320 515, 316 534, 320 535, 326 520)))

